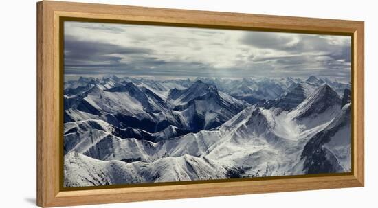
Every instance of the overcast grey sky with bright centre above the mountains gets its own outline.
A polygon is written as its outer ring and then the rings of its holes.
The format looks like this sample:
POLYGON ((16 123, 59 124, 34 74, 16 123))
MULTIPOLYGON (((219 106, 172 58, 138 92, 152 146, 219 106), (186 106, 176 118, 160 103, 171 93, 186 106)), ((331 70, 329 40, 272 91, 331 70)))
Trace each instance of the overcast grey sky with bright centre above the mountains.
POLYGON ((65 22, 65 75, 350 80, 351 37, 65 22))

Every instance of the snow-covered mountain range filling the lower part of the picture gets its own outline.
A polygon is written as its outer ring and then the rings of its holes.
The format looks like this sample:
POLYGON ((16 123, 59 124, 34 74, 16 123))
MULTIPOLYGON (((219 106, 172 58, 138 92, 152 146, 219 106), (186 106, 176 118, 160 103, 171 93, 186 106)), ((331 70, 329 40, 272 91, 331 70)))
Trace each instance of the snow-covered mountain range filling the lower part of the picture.
POLYGON ((65 186, 350 172, 350 87, 316 76, 69 80, 65 186))

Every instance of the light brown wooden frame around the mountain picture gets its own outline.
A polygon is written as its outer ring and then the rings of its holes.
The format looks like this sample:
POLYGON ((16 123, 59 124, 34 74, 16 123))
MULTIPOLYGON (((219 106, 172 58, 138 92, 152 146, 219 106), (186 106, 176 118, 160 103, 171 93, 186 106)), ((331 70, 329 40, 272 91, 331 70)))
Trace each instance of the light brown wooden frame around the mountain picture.
POLYGON ((37 3, 37 205, 55 207, 289 192, 364 186, 364 22, 310 19, 291 16, 236 14, 124 5, 100 5, 40 1, 37 3), (182 183, 144 185, 109 189, 63 189, 60 172, 62 152, 63 65, 60 52, 60 19, 102 19, 113 22, 140 22, 153 25, 184 25, 299 32, 311 34, 348 34, 352 37, 352 173, 310 177, 257 178, 221 183, 182 183))

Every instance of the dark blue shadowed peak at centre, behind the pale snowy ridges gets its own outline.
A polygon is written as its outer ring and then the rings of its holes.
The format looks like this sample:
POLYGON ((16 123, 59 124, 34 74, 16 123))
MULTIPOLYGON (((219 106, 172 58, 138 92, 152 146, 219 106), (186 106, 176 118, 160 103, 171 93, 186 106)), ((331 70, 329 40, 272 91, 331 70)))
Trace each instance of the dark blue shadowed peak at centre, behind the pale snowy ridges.
POLYGON ((188 89, 170 91, 168 97, 191 132, 215 128, 249 105, 200 80, 188 89))

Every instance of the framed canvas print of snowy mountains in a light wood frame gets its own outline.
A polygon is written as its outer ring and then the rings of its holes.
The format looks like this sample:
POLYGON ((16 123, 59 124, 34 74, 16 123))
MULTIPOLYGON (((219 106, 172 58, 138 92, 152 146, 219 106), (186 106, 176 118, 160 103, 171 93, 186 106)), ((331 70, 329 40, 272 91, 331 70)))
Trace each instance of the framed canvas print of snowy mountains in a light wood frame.
POLYGON ((364 185, 364 22, 37 11, 39 206, 364 185))

